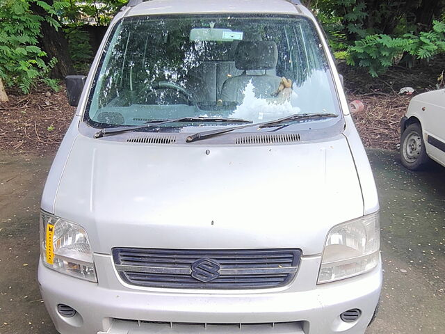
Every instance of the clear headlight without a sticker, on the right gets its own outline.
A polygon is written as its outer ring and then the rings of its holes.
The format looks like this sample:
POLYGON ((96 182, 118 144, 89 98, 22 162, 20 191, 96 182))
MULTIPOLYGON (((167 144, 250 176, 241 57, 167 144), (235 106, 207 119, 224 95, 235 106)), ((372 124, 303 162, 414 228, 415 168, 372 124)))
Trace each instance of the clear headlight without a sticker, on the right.
POLYGON ((378 212, 334 226, 327 234, 318 284, 366 273, 377 266, 379 256, 378 212))

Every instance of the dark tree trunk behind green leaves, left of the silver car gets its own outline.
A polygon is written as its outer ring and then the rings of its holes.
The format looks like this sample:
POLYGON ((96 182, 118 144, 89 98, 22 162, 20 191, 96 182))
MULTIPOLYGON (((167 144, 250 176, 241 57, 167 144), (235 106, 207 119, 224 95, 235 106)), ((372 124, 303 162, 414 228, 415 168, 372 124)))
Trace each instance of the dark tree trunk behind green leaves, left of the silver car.
MULTIPOLYGON (((50 6, 53 5, 53 0, 44 0, 50 6)), ((35 3, 31 3, 31 10, 33 13, 40 16, 45 16, 47 13, 45 10, 35 3)), ((56 19, 56 17, 54 17, 56 19)), ((69 74, 75 74, 74 67, 70 54, 68 52, 68 42, 63 35, 61 29, 56 29, 48 22, 42 21, 40 32, 42 37, 40 38, 40 46, 43 51, 47 53, 48 59, 57 58, 57 63, 51 71, 51 77, 56 79, 63 79, 69 74)))

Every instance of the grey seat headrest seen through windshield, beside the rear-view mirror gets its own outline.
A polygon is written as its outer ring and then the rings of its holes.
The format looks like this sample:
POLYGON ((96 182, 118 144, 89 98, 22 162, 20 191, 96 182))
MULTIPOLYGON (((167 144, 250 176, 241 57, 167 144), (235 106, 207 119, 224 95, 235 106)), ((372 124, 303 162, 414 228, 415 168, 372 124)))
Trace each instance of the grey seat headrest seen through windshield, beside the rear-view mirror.
POLYGON ((277 67, 278 49, 275 42, 239 42, 235 53, 238 70, 272 70, 277 67))

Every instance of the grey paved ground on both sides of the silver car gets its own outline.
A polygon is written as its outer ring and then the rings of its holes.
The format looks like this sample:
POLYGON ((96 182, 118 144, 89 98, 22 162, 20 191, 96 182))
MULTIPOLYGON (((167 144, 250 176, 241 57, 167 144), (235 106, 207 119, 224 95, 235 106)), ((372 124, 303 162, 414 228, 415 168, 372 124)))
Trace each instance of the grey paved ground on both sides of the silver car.
MULTIPOLYGON (((385 282, 366 333, 444 333, 445 168, 413 173, 396 152, 368 153, 380 193, 385 282)), ((51 161, 0 151, 1 334, 56 334, 36 281, 40 195, 51 161)))

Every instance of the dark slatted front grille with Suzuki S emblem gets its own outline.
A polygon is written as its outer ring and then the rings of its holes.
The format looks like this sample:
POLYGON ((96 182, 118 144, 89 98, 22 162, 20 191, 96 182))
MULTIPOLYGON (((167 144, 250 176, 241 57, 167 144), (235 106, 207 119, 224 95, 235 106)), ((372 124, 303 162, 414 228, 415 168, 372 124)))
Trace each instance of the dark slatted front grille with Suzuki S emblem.
POLYGON ((296 275, 300 256, 298 249, 113 248, 115 267, 126 283, 181 289, 280 287, 296 275))

